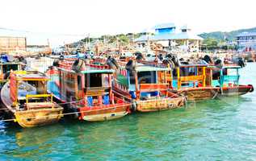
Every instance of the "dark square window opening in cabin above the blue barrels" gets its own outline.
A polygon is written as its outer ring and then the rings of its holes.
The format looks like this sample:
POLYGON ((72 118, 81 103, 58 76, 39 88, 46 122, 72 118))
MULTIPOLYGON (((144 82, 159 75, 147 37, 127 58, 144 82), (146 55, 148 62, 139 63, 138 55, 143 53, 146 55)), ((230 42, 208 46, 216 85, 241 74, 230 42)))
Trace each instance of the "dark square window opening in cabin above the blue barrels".
POLYGON ((86 74, 85 81, 86 81, 85 82, 86 87, 102 87, 103 86, 102 73, 86 74))

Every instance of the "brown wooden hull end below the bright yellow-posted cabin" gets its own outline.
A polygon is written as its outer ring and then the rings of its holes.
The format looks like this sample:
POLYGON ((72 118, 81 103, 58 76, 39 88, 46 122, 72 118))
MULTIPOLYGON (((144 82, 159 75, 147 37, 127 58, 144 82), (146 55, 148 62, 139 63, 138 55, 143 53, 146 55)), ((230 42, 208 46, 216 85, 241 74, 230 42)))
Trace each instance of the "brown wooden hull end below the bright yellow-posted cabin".
POLYGON ((207 101, 214 99, 219 89, 213 87, 205 88, 188 88, 178 90, 177 93, 187 97, 187 101, 207 101))

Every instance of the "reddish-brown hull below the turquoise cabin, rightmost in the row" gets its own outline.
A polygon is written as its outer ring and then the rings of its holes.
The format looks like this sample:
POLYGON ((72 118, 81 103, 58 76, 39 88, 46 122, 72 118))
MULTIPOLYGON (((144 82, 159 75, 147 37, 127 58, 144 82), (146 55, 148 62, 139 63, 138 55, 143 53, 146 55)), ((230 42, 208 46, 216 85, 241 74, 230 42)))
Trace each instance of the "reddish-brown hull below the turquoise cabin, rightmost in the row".
POLYGON ((252 93, 254 87, 252 85, 239 85, 234 87, 223 87, 222 90, 218 93, 218 96, 240 96, 246 93, 252 93))

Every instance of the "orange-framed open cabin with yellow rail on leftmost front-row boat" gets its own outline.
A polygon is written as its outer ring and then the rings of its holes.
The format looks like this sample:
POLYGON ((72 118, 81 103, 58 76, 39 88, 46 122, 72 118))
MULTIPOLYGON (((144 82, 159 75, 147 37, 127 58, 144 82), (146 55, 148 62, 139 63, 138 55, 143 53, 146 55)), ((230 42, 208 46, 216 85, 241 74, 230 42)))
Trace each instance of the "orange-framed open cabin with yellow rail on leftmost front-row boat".
POLYGON ((53 108, 52 94, 47 93, 48 76, 41 72, 10 72, 10 100, 16 109, 53 108), (47 104, 47 105, 46 105, 47 104))

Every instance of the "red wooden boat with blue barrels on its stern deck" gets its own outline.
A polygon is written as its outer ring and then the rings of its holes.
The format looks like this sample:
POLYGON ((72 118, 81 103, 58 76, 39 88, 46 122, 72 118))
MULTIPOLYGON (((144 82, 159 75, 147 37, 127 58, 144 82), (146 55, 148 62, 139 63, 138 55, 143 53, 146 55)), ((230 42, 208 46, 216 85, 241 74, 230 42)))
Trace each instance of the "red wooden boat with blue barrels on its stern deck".
POLYGON ((63 60, 48 70, 52 81, 48 89, 66 111, 89 122, 121 118, 130 113, 130 103, 115 97, 111 77, 115 72, 106 65, 87 64, 84 60, 63 60))

